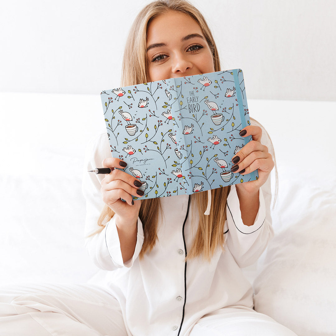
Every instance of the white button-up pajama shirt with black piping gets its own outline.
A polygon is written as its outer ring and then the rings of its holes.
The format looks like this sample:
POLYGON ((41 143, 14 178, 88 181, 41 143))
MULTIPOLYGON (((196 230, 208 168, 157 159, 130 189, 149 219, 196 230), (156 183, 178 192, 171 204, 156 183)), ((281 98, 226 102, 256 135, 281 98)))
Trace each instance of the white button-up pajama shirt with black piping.
MULTIPOLYGON (((262 143, 271 152, 265 133, 262 143)), ((100 193, 104 175, 86 171, 100 167, 102 160, 111 156, 109 148, 105 133, 87 150, 83 180, 87 200, 85 236, 98 228, 97 219, 104 206, 100 193)), ((253 308, 252 287, 241 268, 253 264, 274 235, 270 180, 260 188, 259 210, 252 226, 243 224, 236 187, 231 186, 223 232, 224 251, 217 248, 210 263, 201 257, 185 262, 198 223, 198 211, 192 204, 186 218, 188 199, 188 195, 161 198, 163 217, 159 218, 158 240, 142 260, 139 252, 143 228, 139 218, 135 252, 126 263, 123 263, 114 217, 102 232, 86 238, 93 262, 111 271, 106 286, 120 303, 128 335, 188 335, 200 318, 220 308, 253 308)))

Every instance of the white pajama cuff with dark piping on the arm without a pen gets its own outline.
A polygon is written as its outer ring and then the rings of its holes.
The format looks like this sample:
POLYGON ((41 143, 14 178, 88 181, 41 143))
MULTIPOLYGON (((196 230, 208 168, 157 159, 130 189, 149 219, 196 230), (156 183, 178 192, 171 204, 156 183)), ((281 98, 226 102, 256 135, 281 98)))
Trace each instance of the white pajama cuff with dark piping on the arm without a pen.
POLYGON ((253 225, 247 226, 243 223, 236 185, 231 186, 230 193, 227 197, 227 208, 228 211, 226 212, 226 216, 232 217, 236 228, 243 234, 250 234, 257 231, 263 225, 266 219, 265 200, 261 188, 259 188, 259 209, 253 225))

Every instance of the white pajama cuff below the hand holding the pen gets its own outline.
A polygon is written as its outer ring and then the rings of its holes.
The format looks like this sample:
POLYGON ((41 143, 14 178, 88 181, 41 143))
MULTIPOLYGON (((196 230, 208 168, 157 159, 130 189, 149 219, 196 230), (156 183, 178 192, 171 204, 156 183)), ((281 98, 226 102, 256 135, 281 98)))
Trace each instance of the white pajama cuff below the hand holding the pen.
POLYGON ((136 236, 136 245, 135 245, 135 250, 133 257, 129 260, 127 260, 125 263, 123 262, 123 257, 121 254, 121 248, 120 248, 120 240, 119 240, 119 235, 118 235, 118 230, 117 230, 117 225, 116 225, 116 216, 113 216, 110 221, 106 225, 105 229, 105 242, 106 242, 106 247, 107 250, 109 251, 110 257, 114 264, 117 267, 131 267, 133 265, 134 260, 138 257, 144 236, 143 236, 143 228, 142 228, 142 222, 140 218, 138 217, 137 221, 137 236, 136 236))

